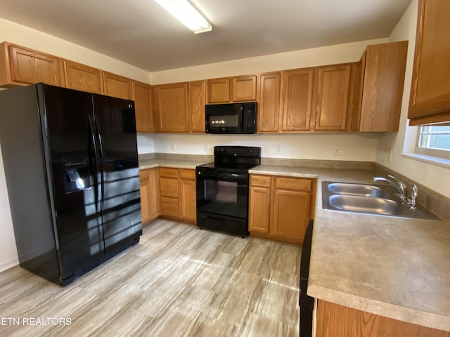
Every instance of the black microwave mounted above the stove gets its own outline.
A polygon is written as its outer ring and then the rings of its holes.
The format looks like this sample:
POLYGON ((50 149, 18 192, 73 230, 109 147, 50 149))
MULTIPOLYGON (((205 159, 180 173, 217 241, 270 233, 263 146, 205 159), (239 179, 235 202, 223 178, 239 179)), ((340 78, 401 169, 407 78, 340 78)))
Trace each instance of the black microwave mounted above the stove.
POLYGON ((256 133, 256 102, 205 105, 206 133, 256 133))

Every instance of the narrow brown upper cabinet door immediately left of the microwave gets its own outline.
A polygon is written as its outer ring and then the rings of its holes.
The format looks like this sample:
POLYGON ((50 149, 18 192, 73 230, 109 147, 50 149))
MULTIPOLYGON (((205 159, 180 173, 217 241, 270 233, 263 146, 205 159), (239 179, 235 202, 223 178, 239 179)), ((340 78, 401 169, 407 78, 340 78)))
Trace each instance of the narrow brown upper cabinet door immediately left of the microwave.
POLYGON ((205 133, 205 81, 189 82, 189 132, 205 133))

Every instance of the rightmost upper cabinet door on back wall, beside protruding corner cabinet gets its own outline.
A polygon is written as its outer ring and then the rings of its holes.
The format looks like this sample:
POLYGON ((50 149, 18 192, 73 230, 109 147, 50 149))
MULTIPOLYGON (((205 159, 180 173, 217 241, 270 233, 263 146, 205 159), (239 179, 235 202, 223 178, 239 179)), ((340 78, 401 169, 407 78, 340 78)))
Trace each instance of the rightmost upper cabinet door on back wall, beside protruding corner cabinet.
POLYGON ((345 130, 351 65, 320 67, 316 90, 316 130, 345 130))

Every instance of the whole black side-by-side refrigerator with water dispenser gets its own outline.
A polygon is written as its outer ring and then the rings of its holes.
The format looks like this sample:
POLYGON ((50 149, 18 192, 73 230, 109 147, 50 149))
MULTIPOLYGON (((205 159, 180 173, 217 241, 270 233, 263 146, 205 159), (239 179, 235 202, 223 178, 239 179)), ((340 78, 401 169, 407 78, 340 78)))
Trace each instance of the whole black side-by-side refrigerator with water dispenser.
POLYGON ((21 267, 65 286, 139 242, 133 101, 0 91, 0 144, 21 267))

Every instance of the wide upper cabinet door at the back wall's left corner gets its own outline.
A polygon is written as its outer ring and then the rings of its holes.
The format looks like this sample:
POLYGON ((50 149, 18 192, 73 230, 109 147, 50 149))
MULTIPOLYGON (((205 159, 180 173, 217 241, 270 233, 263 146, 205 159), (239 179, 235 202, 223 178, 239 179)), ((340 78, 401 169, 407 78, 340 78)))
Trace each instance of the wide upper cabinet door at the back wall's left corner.
POLYGON ((188 84, 155 87, 159 132, 188 132, 188 84))

